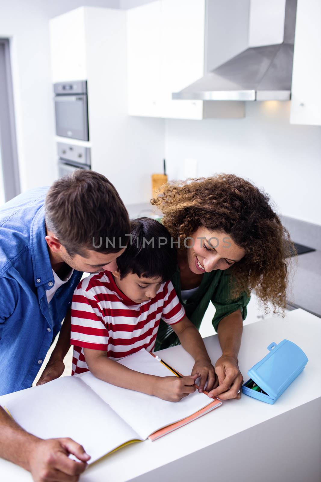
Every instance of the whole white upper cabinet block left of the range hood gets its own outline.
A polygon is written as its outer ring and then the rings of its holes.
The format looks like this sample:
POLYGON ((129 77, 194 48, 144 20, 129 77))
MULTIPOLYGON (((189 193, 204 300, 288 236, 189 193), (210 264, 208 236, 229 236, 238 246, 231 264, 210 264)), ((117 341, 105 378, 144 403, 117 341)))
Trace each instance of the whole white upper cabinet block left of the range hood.
POLYGON ((128 114, 244 117, 240 102, 172 100, 204 74, 205 0, 157 0, 127 12, 128 114))

